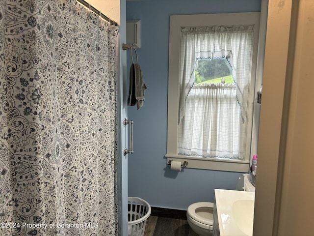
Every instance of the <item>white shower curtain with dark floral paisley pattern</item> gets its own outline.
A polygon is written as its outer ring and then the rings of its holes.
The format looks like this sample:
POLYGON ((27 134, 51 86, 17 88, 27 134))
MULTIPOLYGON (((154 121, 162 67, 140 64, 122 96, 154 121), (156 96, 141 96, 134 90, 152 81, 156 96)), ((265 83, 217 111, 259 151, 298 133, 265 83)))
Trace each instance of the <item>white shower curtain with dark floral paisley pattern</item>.
POLYGON ((75 0, 0 0, 0 235, 116 235, 118 29, 75 0))

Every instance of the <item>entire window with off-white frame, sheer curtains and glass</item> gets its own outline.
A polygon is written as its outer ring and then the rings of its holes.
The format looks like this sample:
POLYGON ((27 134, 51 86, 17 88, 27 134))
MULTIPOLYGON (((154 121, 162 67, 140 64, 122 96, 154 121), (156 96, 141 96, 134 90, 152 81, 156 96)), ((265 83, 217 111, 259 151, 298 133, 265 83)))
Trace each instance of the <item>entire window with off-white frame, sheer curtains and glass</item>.
POLYGON ((258 23, 259 13, 170 17, 168 159, 248 170, 258 23))

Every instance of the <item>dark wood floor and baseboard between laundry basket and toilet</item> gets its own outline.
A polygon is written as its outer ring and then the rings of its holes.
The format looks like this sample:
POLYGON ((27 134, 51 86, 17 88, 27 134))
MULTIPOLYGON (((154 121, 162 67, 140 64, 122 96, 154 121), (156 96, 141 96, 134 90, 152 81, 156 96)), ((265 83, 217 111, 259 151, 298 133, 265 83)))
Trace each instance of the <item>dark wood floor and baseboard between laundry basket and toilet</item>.
MULTIPOLYGON (((160 208, 159 208, 160 209, 160 208)), ((198 236, 186 221, 186 211, 173 213, 152 209, 148 217, 144 236, 198 236)))

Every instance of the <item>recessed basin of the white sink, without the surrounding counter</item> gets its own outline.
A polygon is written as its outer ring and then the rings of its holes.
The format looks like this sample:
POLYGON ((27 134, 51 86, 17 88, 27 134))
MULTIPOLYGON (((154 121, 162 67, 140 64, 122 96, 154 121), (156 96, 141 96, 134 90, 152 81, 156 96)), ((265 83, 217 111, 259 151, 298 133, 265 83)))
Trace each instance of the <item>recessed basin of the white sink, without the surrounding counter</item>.
POLYGON ((232 205, 235 223, 247 236, 253 234, 254 200, 237 200, 232 205))

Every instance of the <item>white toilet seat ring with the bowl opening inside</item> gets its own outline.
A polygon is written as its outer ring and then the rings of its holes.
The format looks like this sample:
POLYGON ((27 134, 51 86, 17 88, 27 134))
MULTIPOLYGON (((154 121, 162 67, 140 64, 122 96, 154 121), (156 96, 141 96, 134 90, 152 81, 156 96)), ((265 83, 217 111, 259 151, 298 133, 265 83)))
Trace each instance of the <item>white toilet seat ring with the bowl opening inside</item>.
POLYGON ((194 220, 206 225, 212 225, 213 207, 213 203, 193 203, 187 208, 187 212, 194 220))

